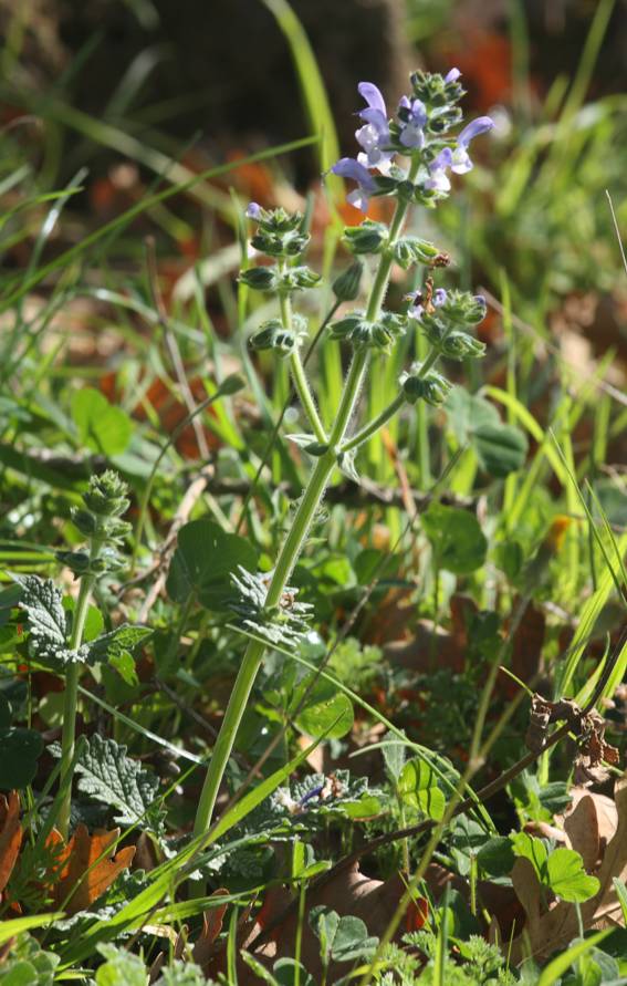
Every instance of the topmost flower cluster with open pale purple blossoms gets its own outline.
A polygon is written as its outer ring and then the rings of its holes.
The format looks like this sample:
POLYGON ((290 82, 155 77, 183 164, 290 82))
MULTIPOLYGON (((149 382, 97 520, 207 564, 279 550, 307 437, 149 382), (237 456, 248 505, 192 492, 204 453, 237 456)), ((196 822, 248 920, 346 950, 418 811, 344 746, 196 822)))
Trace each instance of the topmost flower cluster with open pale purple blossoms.
POLYGON ((457 105, 463 95, 460 74, 459 69, 445 76, 415 72, 412 91, 401 97, 391 118, 377 86, 359 83, 359 95, 367 104, 358 114, 363 126, 355 132, 362 151, 356 158, 341 158, 331 169, 356 183, 348 195, 352 205, 365 212, 370 196, 393 195, 433 206, 450 190, 449 172, 463 175, 472 168, 470 142, 494 124, 489 116, 480 116, 457 137, 448 136, 461 122, 457 105), (396 155, 411 159, 411 176, 396 162, 396 155))

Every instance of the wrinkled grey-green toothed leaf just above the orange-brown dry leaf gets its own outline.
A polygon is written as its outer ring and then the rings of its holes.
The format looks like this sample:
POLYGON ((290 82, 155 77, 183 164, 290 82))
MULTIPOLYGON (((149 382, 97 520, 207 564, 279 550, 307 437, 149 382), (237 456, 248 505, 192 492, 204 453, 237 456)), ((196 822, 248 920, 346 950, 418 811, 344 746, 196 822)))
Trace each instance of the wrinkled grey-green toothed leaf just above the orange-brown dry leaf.
POLYGON ((160 811, 155 805, 159 780, 127 757, 125 746, 95 733, 76 764, 76 774, 79 790, 115 808, 118 824, 142 822, 155 830, 160 828, 160 811))

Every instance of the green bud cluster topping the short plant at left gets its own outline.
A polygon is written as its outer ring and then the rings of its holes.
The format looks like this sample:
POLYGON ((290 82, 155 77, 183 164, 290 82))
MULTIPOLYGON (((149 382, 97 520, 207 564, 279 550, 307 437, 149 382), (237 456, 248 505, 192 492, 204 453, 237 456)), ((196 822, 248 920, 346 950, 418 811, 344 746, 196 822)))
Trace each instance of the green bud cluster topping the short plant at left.
POLYGON ((72 521, 98 550, 56 552, 59 561, 76 577, 103 575, 124 568, 117 547, 130 531, 130 525, 121 520, 129 506, 127 492, 128 487, 112 469, 90 479, 83 494, 84 506, 72 510, 72 521))

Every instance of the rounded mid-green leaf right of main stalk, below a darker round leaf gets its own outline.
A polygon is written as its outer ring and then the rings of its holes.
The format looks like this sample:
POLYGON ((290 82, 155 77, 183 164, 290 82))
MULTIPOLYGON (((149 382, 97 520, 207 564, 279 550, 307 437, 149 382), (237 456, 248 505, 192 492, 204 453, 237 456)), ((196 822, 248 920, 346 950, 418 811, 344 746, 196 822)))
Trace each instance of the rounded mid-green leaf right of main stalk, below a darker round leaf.
POLYGON ((422 527, 439 568, 466 575, 485 561, 488 541, 468 510, 432 502, 422 515, 422 527))

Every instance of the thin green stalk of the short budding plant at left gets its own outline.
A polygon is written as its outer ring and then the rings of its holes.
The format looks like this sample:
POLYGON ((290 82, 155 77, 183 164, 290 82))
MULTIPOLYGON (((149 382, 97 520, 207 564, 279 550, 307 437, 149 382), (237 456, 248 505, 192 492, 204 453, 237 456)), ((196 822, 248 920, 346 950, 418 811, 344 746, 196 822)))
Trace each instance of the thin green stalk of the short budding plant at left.
MULTIPOLYGON (((92 540, 90 561, 97 558, 101 542, 92 540)), ((70 635, 70 650, 76 651, 83 643, 85 621, 90 610, 90 596, 96 581, 95 575, 84 575, 81 579, 79 599, 74 609, 72 633, 70 635)), ((60 785, 67 785, 65 796, 59 809, 58 828, 65 840, 70 832, 70 811, 72 807, 72 774, 74 760, 74 746, 76 743, 76 704, 79 699, 79 675, 81 664, 71 664, 65 675, 65 693, 63 697, 63 731, 61 735, 61 772, 60 785), (69 777, 70 775, 70 777, 69 777)))

